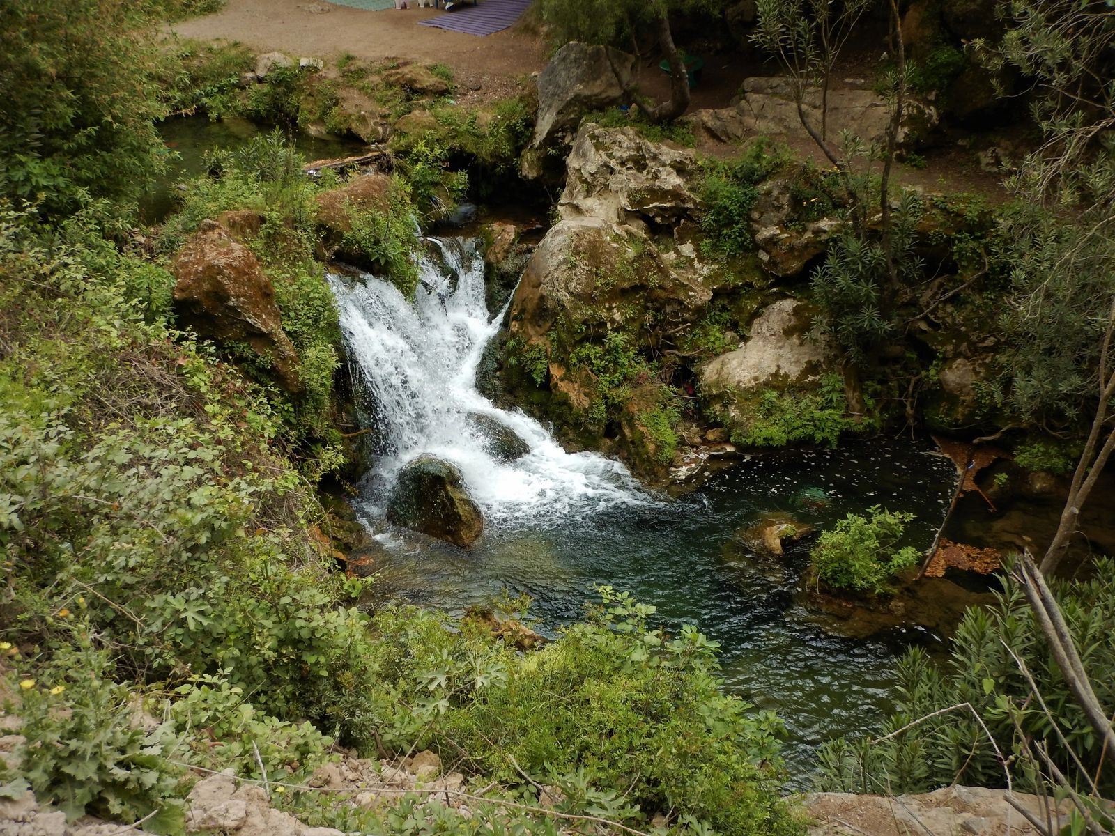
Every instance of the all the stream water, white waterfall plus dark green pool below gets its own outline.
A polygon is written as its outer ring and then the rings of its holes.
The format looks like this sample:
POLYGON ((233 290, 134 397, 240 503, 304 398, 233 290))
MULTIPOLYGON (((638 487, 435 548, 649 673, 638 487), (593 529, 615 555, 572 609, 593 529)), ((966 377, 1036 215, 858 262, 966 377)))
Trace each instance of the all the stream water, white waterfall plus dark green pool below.
POLYGON ((413 303, 381 279, 330 276, 365 389, 362 420, 379 445, 358 511, 389 554, 377 564, 381 586, 453 612, 525 592, 550 631, 581 618, 597 585, 630 591, 658 607, 667 629, 691 622, 720 642, 728 687, 786 722, 797 775, 824 739, 874 728, 896 654, 935 639, 917 629, 884 640, 826 635, 794 603, 804 552, 763 560, 741 533, 770 511, 825 526, 883 505, 918 515, 910 533, 924 547, 951 496, 951 461, 910 443, 856 443, 748 459, 681 499, 649 494, 621 464, 565 453, 537 421, 476 390, 502 312, 485 310, 472 242, 434 242, 420 272, 413 303), (510 464, 493 458, 471 412, 511 427, 531 451, 510 464), (426 453, 460 469, 484 512, 485 533, 467 551, 384 519, 399 469, 426 453))

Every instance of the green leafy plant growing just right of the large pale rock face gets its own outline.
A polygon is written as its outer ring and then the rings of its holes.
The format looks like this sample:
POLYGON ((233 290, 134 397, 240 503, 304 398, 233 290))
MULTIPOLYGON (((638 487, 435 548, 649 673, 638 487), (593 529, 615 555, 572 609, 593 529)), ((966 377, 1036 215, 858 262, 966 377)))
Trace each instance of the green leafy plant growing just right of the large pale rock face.
POLYGON ((731 257, 755 249, 748 226, 758 200, 758 184, 785 164, 766 140, 752 143, 736 161, 701 161, 700 226, 704 249, 715 256, 731 257))

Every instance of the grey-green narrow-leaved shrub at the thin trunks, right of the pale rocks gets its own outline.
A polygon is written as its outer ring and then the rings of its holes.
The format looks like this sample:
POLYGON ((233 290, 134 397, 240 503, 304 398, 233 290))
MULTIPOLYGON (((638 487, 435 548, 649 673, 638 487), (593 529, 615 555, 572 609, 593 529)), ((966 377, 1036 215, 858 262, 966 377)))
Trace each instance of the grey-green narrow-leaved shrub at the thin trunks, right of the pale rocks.
MULTIPOLYGON (((900 285, 912 284, 921 275, 922 262, 913 250, 921 215, 920 198, 904 193, 891 229, 900 285)), ((818 328, 832 334, 853 361, 863 362, 880 342, 895 333, 895 288, 879 241, 854 233, 833 239, 825 263, 813 275, 813 292, 822 307, 818 328)))

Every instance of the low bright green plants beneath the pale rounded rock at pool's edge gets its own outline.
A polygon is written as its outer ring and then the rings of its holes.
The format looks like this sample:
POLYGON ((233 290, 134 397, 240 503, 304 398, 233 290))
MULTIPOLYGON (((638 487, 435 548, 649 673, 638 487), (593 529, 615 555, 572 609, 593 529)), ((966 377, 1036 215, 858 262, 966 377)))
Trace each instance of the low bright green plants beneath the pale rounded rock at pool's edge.
MULTIPOLYGON (((785 447, 789 444, 823 444, 835 447, 841 432, 871 427, 847 415, 844 381, 825 375, 816 391, 766 389, 757 402, 740 404, 743 430, 733 432, 736 444, 747 447, 785 447)), ((869 414, 872 402, 867 404, 869 414)))

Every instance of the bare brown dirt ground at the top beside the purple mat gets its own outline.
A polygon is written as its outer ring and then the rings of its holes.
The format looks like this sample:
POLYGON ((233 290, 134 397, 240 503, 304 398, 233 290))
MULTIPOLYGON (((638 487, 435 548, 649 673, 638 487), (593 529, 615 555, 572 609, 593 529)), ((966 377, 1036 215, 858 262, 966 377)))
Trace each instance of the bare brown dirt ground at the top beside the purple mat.
POLYGON ((227 0, 217 13, 176 23, 174 31, 185 38, 240 41, 261 52, 440 61, 453 67, 463 86, 479 86, 492 97, 510 93, 516 79, 545 66, 541 39, 518 26, 484 38, 418 26, 440 13, 428 8, 363 11, 321 0, 227 0))

